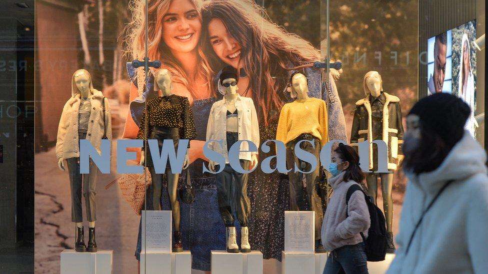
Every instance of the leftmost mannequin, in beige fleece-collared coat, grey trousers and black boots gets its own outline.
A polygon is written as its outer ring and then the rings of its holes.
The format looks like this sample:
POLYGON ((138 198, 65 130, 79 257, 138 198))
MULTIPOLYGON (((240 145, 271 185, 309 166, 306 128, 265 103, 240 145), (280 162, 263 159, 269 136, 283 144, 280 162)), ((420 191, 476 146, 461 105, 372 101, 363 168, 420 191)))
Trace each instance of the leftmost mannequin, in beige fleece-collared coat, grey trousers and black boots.
POLYGON ((66 160, 71 186, 71 221, 76 226, 75 250, 96 252, 95 241, 95 187, 97 168, 89 161, 89 174, 79 173, 79 140, 89 140, 100 153, 101 139, 111 140, 111 117, 108 100, 93 88, 91 75, 84 69, 76 70, 71 79, 71 98, 63 107, 57 131, 57 165, 64 171, 66 160), (103 111, 105 113, 103 113, 103 111), (105 121, 103 117, 105 116, 105 121), (83 191, 81 191, 83 189, 83 191), (81 192, 85 198, 89 222, 88 246, 84 244, 81 210, 81 192))

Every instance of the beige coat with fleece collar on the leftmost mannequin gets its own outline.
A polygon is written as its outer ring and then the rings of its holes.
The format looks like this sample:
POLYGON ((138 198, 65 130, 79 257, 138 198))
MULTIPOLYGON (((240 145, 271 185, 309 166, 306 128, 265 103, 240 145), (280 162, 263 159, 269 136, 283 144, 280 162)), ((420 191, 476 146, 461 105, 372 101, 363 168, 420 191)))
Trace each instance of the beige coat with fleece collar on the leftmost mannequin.
MULTIPOLYGON (((79 140, 78 140, 78 110, 80 103, 80 93, 76 93, 64 104, 57 128, 56 157, 57 159, 79 157, 79 140)), ((91 145, 100 152, 101 138, 103 136, 103 94, 92 90, 91 95, 91 113, 88 120, 88 130, 86 139, 91 145)), ((105 119, 106 119, 106 136, 108 140, 112 139, 112 121, 110 117, 110 105, 105 99, 105 119)))

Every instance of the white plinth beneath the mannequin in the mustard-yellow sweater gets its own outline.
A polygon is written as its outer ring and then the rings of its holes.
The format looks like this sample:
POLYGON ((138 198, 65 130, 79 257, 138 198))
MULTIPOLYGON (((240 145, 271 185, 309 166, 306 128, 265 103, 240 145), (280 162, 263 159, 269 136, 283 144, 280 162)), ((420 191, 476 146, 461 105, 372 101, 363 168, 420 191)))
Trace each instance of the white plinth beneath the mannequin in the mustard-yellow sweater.
POLYGON ((281 252, 281 274, 322 274, 326 253, 281 252))

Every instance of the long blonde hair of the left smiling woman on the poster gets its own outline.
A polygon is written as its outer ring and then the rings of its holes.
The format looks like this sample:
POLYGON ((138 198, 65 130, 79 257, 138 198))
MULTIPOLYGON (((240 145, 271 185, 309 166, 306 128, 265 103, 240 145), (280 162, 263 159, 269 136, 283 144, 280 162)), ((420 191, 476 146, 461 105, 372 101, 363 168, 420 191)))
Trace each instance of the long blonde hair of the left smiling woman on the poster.
MULTIPOLYGON (((162 40, 162 17, 169 9, 172 0, 148 0, 148 42, 147 55, 151 61, 160 60, 161 68, 167 69, 172 74, 172 79, 175 82, 182 83, 191 94, 194 94, 193 85, 190 85, 187 80, 187 75, 181 67, 181 64, 173 54, 169 51, 168 46, 162 40)), ((190 0, 195 6, 201 20, 201 4, 202 0, 190 0)), ((129 9, 132 11, 132 21, 127 25, 125 38, 125 55, 129 59, 142 60, 145 54, 145 0, 131 0, 129 2, 129 9)), ((211 88, 211 72, 209 65, 203 51, 198 47, 197 54, 199 63, 197 67, 198 73, 202 75, 209 90, 211 88)), ((151 69, 154 74, 155 70, 151 69)), ((143 67, 137 68, 137 87, 139 95, 143 92, 145 85, 145 72, 143 67)))

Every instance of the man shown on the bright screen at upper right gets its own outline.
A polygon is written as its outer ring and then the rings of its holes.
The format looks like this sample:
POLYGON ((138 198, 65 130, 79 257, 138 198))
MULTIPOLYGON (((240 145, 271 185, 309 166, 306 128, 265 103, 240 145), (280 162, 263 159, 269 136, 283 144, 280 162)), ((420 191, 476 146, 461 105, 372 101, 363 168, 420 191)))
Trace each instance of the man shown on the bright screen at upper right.
POLYGON ((434 42, 434 75, 428 79, 429 94, 442 92, 447 59, 447 32, 435 36, 434 42))

